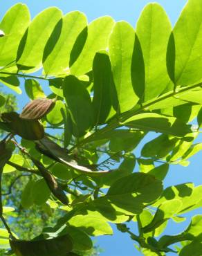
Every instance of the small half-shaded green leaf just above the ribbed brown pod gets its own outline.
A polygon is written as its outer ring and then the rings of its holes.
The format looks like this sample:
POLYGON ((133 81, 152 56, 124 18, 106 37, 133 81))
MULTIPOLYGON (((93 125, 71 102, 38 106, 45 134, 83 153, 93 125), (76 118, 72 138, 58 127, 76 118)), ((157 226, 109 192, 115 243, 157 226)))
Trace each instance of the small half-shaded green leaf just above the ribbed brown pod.
POLYGON ((46 98, 42 86, 37 80, 26 79, 24 86, 26 93, 31 100, 35 100, 36 98, 46 98))

